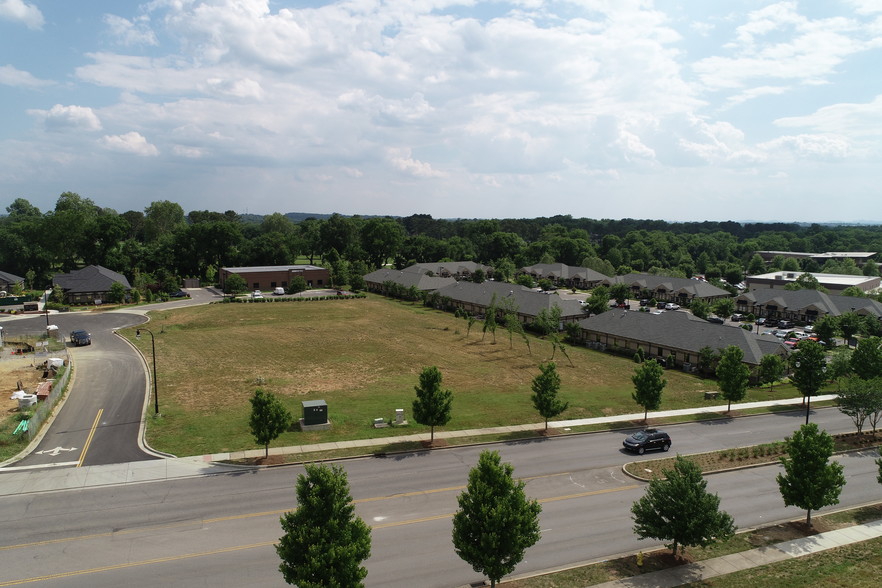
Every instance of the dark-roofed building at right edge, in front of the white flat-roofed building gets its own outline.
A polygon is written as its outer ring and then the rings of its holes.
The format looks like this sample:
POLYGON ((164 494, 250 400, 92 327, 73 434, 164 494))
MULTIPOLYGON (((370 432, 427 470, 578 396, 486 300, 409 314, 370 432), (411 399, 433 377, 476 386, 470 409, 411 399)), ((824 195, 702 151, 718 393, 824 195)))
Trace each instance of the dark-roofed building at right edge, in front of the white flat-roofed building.
POLYGON ((772 290, 762 288, 743 292, 735 298, 738 312, 757 317, 811 323, 822 316, 846 312, 882 317, 882 303, 872 298, 838 296, 817 290, 772 290))

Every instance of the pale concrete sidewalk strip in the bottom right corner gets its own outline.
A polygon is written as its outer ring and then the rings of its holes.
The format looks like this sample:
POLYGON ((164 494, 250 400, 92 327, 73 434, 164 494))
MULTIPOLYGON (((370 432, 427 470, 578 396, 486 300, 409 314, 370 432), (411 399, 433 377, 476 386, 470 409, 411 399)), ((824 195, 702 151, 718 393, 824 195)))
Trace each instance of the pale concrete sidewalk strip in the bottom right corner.
POLYGON ((750 551, 715 557, 676 568, 650 572, 604 584, 596 584, 591 588, 670 588, 672 586, 682 586, 691 582, 699 582, 741 570, 788 561, 879 537, 882 537, 882 521, 873 521, 863 525, 819 533, 811 537, 785 541, 784 543, 768 547, 759 547, 750 551))

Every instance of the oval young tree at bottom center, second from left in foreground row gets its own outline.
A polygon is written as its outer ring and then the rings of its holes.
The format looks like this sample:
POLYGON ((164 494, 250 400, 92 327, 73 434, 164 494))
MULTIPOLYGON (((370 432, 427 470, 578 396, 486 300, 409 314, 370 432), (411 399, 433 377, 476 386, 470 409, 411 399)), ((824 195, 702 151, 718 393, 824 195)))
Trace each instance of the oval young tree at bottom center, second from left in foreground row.
POLYGON ((486 575, 491 586, 514 571, 540 536, 542 507, 527 499, 525 484, 514 481, 513 471, 511 464, 501 463, 496 451, 481 452, 453 515, 456 554, 486 575))

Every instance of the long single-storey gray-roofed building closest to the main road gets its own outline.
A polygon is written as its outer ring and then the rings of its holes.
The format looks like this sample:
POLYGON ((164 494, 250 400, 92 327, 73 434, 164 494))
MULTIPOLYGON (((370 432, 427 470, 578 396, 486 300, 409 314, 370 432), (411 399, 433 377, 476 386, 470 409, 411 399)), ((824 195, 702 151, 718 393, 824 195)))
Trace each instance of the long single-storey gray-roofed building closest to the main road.
POLYGON ((744 363, 759 365, 763 356, 788 353, 776 338, 763 337, 740 327, 716 325, 687 312, 634 312, 610 310, 579 322, 589 346, 635 352, 660 358, 668 367, 698 364, 699 351, 714 351, 735 345, 744 352, 744 363))

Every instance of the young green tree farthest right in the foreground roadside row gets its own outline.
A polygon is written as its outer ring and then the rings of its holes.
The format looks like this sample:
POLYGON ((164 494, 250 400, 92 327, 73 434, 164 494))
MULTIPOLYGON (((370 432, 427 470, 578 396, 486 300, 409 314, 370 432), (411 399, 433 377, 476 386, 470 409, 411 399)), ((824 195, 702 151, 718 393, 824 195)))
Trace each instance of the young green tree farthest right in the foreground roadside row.
POLYGON ((784 506, 806 510, 805 523, 812 526, 812 511, 839 504, 845 486, 842 464, 830 462, 833 437, 815 423, 803 425, 787 437, 787 456, 781 458, 784 473, 778 474, 778 488, 784 506))

